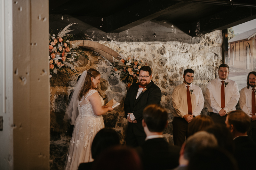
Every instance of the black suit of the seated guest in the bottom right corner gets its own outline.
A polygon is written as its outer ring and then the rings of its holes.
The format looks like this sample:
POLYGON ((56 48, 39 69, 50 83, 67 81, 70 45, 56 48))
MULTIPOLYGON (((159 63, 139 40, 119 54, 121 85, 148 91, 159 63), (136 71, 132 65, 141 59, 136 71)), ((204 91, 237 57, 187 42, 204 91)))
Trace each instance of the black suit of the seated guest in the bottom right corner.
POLYGON ((256 143, 254 143, 249 137, 241 136, 234 139, 235 143, 235 158, 240 170, 256 169, 254 165, 256 154, 256 143))

